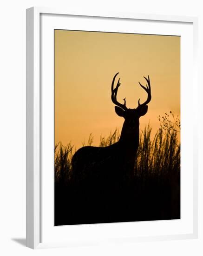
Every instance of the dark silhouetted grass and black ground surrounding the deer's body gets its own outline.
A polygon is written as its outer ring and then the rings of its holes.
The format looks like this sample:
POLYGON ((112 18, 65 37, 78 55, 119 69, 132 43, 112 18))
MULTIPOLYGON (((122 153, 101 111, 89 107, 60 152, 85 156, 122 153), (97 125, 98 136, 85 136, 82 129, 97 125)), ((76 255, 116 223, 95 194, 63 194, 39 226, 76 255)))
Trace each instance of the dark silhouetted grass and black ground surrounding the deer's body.
MULTIPOLYGON (((83 182, 76 182, 72 169, 73 146, 71 143, 66 147, 61 143, 56 145, 55 225, 179 219, 180 143, 177 133, 180 124, 171 115, 174 121, 170 121, 167 113, 158 117, 161 128, 153 139, 149 125, 141 132, 133 173, 127 182, 119 181, 116 172, 106 182, 111 165, 99 170, 102 175, 87 175, 83 182)), ((98 146, 111 146, 119 138, 116 129, 107 138, 101 137, 98 146)), ((90 135, 87 146, 92 142, 90 135)))

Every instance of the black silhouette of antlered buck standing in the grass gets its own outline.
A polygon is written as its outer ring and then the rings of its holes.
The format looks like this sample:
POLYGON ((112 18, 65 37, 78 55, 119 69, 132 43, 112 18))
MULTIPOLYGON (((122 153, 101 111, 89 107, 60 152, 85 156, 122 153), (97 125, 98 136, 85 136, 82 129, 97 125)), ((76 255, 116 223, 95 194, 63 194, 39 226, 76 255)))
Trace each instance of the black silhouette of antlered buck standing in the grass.
POLYGON ((118 142, 108 147, 85 146, 80 148, 72 158, 73 180, 81 184, 85 182, 88 186, 95 185, 96 188, 117 187, 121 183, 131 179, 134 173, 134 163, 139 145, 139 118, 147 113, 147 104, 151 101, 150 78, 146 87, 140 82, 139 85, 146 91, 147 100, 138 107, 130 109, 117 101, 118 88, 121 85, 120 78, 114 88, 114 82, 119 73, 115 74, 111 84, 111 101, 116 105, 115 112, 124 118, 124 124, 118 142), (87 182, 87 183, 86 183, 87 182))

